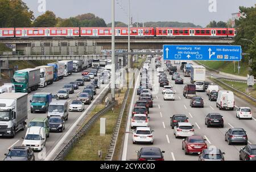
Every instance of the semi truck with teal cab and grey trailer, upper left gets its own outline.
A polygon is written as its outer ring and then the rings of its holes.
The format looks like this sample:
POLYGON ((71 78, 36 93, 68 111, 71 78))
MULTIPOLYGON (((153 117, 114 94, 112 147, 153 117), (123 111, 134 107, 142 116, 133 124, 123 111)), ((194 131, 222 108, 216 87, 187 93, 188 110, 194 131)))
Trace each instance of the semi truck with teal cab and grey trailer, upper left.
POLYGON ((40 84, 40 69, 26 68, 24 70, 15 71, 13 76, 16 93, 30 93, 38 89, 40 84))

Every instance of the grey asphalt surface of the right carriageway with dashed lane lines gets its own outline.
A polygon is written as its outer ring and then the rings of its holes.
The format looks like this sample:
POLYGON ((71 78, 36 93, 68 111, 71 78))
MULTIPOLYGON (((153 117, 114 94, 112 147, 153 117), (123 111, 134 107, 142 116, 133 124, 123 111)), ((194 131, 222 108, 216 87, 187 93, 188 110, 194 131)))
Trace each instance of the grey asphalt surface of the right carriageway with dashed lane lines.
MULTIPOLYGON (((152 58, 151 68, 155 70, 155 59, 152 58)), ((162 61, 162 66, 164 66, 166 70, 166 65, 162 61)), ((180 66, 177 68, 179 69, 180 66)), ((201 96, 204 98, 204 108, 191 108, 189 106, 190 99, 185 99, 183 97, 183 88, 185 84, 190 84, 190 78, 184 78, 183 72, 178 70, 181 74, 181 78, 184 79, 183 85, 175 85, 174 81, 171 80, 171 75, 167 73, 168 80, 170 81, 170 85, 173 85, 175 92, 175 101, 164 101, 162 88, 159 87, 158 76, 156 76, 156 72, 153 76, 153 85, 155 91, 153 91, 153 102, 154 108, 150 109, 150 117, 149 126, 151 130, 154 130, 154 144, 133 144, 133 131, 130 129, 130 124, 128 122, 126 132, 126 139, 124 143, 124 150, 122 160, 137 160, 136 150, 141 149, 142 147, 159 147, 164 153, 164 160, 167 161, 196 161, 198 160, 198 154, 189 154, 185 155, 184 151, 181 149, 182 139, 176 139, 174 136, 174 130, 170 127, 170 117, 174 114, 185 114, 189 118, 188 121, 194 125, 195 135, 203 136, 207 139, 208 148, 218 148, 221 149, 222 152, 225 152, 224 155, 225 160, 228 161, 237 161, 239 160, 238 153, 244 145, 228 145, 228 143, 224 140, 225 132, 229 130, 229 128, 239 127, 244 128, 247 132, 247 136, 249 138, 249 144, 256 143, 256 108, 248 105, 245 101, 235 96, 236 108, 237 106, 249 106, 252 111, 254 118, 253 120, 249 119, 241 119, 236 118, 236 111, 230 110, 219 110, 216 108, 216 102, 209 101, 208 96, 205 92, 197 92, 197 96, 201 96), (208 113, 220 113, 224 116, 224 128, 218 127, 210 127, 204 123, 205 115, 208 113)), ((208 73, 210 73, 208 71, 208 73)), ((140 78, 137 76, 137 85, 140 78)), ((220 87, 220 90, 222 88, 220 87)), ((134 89, 137 92, 137 89, 134 89)), ((130 106, 128 121, 130 121, 131 110, 133 110, 133 106, 135 102, 138 100, 138 96, 135 93, 135 96, 132 99, 132 104, 130 106)))

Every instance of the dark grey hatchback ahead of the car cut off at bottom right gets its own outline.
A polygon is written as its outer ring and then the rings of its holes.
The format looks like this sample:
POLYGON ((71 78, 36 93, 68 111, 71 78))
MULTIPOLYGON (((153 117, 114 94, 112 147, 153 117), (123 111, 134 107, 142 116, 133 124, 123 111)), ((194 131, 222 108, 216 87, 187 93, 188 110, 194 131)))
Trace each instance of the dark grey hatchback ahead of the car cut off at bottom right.
POLYGON ((225 141, 228 141, 228 144, 231 145, 233 143, 238 144, 248 144, 248 137, 246 135, 246 131, 243 128, 230 128, 226 131, 225 141))

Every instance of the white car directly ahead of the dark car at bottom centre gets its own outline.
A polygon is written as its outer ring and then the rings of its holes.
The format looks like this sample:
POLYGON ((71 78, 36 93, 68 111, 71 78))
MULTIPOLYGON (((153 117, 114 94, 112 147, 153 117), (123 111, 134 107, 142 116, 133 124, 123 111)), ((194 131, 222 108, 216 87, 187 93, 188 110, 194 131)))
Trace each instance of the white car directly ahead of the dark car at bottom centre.
POLYGON ((150 127, 137 127, 133 132, 133 144, 135 143, 154 143, 154 137, 152 135, 150 127))

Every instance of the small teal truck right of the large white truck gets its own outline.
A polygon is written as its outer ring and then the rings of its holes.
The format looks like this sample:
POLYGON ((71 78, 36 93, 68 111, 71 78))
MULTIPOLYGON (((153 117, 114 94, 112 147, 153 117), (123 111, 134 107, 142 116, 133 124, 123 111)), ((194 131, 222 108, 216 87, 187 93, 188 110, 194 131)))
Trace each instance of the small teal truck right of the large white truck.
POLYGON ((49 104, 52 102, 52 93, 35 93, 30 100, 30 111, 44 112, 48 111, 49 104))

